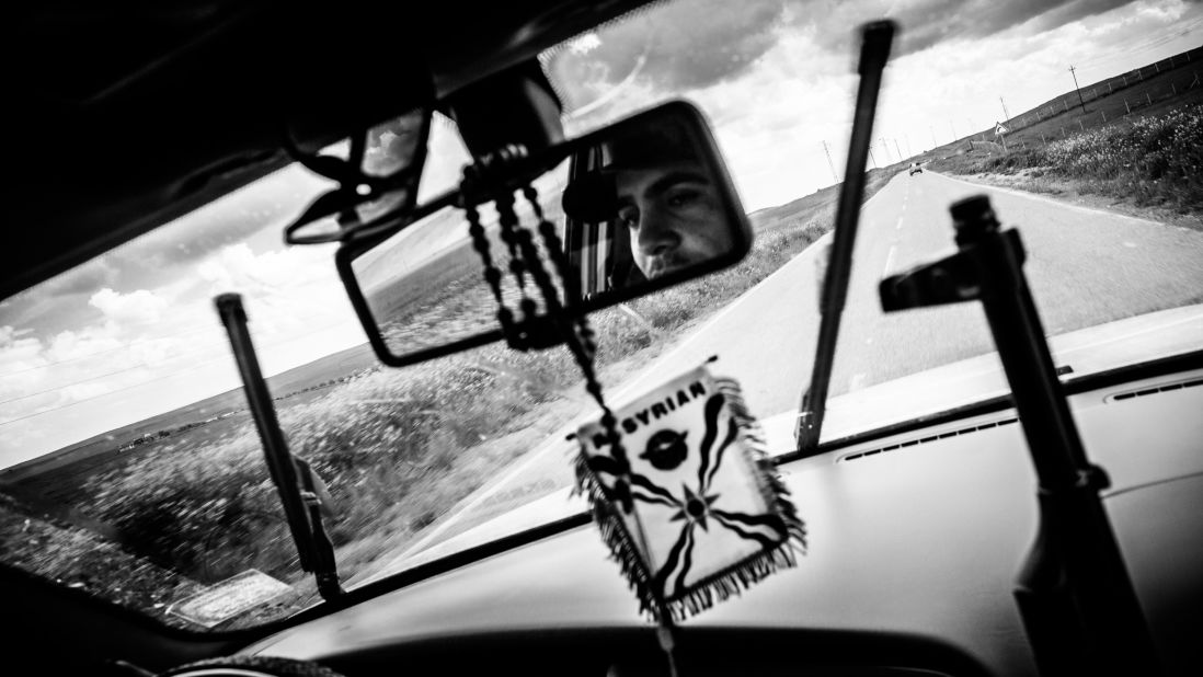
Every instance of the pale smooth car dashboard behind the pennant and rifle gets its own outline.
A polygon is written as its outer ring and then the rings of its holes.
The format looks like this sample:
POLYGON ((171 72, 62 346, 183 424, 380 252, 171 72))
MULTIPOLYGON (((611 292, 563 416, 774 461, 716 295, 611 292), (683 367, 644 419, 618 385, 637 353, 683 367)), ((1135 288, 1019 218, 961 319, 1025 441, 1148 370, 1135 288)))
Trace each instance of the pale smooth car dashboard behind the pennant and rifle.
MULTIPOLYGON (((1203 369, 1071 397, 1169 673, 1203 661, 1203 369), (1172 553, 1172 556, 1167 556, 1172 553)), ((798 566, 687 619, 682 675, 1032 675, 1012 590, 1036 534, 1014 410, 778 467, 806 521, 798 566)), ((582 504, 583 505, 583 504, 582 504)), ((666 673, 654 628, 592 524, 498 552, 241 652, 349 677, 666 673)))

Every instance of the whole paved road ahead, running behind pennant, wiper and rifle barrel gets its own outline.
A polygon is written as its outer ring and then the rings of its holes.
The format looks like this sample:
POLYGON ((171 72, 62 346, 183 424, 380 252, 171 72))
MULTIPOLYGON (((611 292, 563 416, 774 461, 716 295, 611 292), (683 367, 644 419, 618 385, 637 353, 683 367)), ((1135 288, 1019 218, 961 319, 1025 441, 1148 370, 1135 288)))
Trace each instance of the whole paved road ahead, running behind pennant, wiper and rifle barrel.
MULTIPOLYGON (((883 277, 953 250, 948 204, 979 192, 990 194, 1005 225, 1020 228, 1029 251, 1026 272, 1049 334, 1203 302, 1201 232, 931 172, 899 174, 861 212, 832 397, 994 350, 976 304, 885 315, 877 299, 883 277)), ((759 416, 796 410, 814 351, 816 259, 825 240, 733 302, 612 400, 718 355, 713 370, 737 378, 759 416)), ((557 439, 532 451, 409 552, 546 494, 550 486, 567 486, 568 449, 557 439), (540 492, 531 495, 527 487, 540 492)))

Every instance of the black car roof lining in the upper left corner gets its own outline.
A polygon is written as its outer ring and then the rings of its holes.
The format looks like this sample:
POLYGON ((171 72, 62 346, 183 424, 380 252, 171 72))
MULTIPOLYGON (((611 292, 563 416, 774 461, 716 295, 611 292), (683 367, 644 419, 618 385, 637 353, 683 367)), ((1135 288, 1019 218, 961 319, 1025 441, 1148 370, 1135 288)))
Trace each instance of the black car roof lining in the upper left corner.
POLYGON ((285 127, 316 150, 644 4, 23 5, 0 298, 286 166, 285 127))

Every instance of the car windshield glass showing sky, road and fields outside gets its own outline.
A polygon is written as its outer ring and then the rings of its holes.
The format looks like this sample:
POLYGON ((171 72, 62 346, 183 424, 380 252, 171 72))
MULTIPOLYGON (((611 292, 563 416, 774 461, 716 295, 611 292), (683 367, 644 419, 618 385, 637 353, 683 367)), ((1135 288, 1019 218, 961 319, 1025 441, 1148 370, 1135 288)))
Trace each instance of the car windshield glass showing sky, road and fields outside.
MULTIPOLYGON (((1203 6, 935 5, 681 0, 541 55, 569 136, 697 105, 755 237, 728 271, 592 315, 608 399, 716 356, 771 452, 793 450, 855 29, 887 10, 901 35, 823 439, 1006 393, 978 305, 885 315, 877 298, 883 277, 949 250, 948 206, 977 192, 1020 227, 1062 374, 1203 348, 1203 6)), ((448 119, 428 147, 420 202, 467 161, 448 119)), ((213 307, 224 292, 243 296, 288 444, 328 492, 345 586, 582 510, 565 433, 598 410, 567 350, 492 344, 381 366, 334 245, 282 244, 327 188, 290 166, 0 302, 4 565, 192 630, 320 601, 213 307)), ((455 328, 443 310, 404 331, 438 344, 455 328)))

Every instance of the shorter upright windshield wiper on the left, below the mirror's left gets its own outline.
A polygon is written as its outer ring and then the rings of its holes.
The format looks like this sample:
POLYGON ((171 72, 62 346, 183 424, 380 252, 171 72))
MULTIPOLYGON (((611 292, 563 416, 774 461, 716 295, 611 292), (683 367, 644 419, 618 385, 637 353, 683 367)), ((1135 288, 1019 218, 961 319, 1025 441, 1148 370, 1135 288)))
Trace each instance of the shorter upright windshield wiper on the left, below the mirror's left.
POLYGON ((218 315, 230 334, 230 346, 238 363, 238 374, 247 392, 247 403, 255 417, 255 427, 263 441, 263 457, 267 471, 280 494, 280 506, 288 521, 292 540, 301 558, 301 569, 312 571, 318 581, 318 593, 322 599, 332 600, 344 593, 338 581, 338 569, 334 562, 334 545, 326 534, 321 519, 321 495, 325 487, 309 467, 309 463, 292 456, 284 432, 275 417, 275 406, 267 390, 267 381, 259 369, 259 358, 247 328, 247 311, 242 307, 242 296, 223 293, 218 296, 218 315))

